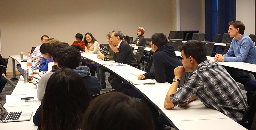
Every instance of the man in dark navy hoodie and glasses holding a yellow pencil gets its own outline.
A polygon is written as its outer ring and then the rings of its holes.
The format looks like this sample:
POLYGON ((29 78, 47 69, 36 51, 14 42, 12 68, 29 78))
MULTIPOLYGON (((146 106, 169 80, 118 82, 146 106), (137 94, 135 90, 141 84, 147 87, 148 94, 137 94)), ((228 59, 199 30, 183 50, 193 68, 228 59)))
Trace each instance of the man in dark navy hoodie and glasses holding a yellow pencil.
POLYGON ((151 36, 151 48, 154 51, 153 64, 154 71, 140 74, 138 79, 156 79, 159 83, 172 83, 174 78, 173 70, 177 66, 182 66, 181 61, 174 53, 174 47, 166 44, 166 35, 163 33, 155 33, 151 36))

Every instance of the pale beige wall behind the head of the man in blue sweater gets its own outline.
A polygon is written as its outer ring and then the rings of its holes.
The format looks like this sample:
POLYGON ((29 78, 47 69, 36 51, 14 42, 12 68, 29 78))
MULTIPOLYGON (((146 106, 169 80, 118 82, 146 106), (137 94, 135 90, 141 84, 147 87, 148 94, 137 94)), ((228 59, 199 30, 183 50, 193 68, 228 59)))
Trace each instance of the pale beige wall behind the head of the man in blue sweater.
POLYGON ((245 24, 245 34, 255 34, 255 0, 236 1, 236 20, 245 24))

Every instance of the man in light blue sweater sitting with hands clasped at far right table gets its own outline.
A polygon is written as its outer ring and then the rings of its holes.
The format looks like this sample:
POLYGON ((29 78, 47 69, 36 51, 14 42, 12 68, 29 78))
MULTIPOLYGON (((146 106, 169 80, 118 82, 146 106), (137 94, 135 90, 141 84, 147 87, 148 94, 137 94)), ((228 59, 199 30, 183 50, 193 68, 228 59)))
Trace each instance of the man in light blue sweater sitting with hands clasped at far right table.
MULTIPOLYGON (((241 21, 229 22, 228 33, 230 37, 234 37, 230 48, 226 54, 216 54, 214 57, 215 61, 226 61, 226 62, 245 62, 250 64, 256 64, 256 48, 251 38, 244 34, 245 25, 241 21)), ((247 73, 242 71, 236 71, 225 68, 228 73, 233 77, 237 78, 248 78, 247 73)))

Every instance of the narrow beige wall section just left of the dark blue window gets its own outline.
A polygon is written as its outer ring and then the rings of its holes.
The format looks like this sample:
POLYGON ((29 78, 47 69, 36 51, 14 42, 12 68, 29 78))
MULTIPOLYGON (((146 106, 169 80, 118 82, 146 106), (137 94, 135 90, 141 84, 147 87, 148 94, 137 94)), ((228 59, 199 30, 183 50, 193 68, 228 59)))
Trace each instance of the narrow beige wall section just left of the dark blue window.
POLYGON ((205 32, 204 0, 180 0, 180 28, 205 32))

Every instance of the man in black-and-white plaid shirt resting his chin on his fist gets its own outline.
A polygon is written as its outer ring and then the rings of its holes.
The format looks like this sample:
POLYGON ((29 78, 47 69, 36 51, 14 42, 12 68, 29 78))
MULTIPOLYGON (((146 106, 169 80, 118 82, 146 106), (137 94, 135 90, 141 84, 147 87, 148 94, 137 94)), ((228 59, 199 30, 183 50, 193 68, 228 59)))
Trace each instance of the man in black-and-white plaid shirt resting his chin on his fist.
POLYGON ((164 108, 184 107, 198 98, 206 106, 240 122, 248 106, 234 79, 218 62, 206 61, 206 47, 202 42, 188 41, 180 50, 183 66, 174 69, 175 78, 167 92, 164 108), (184 72, 193 73, 177 91, 184 72))

